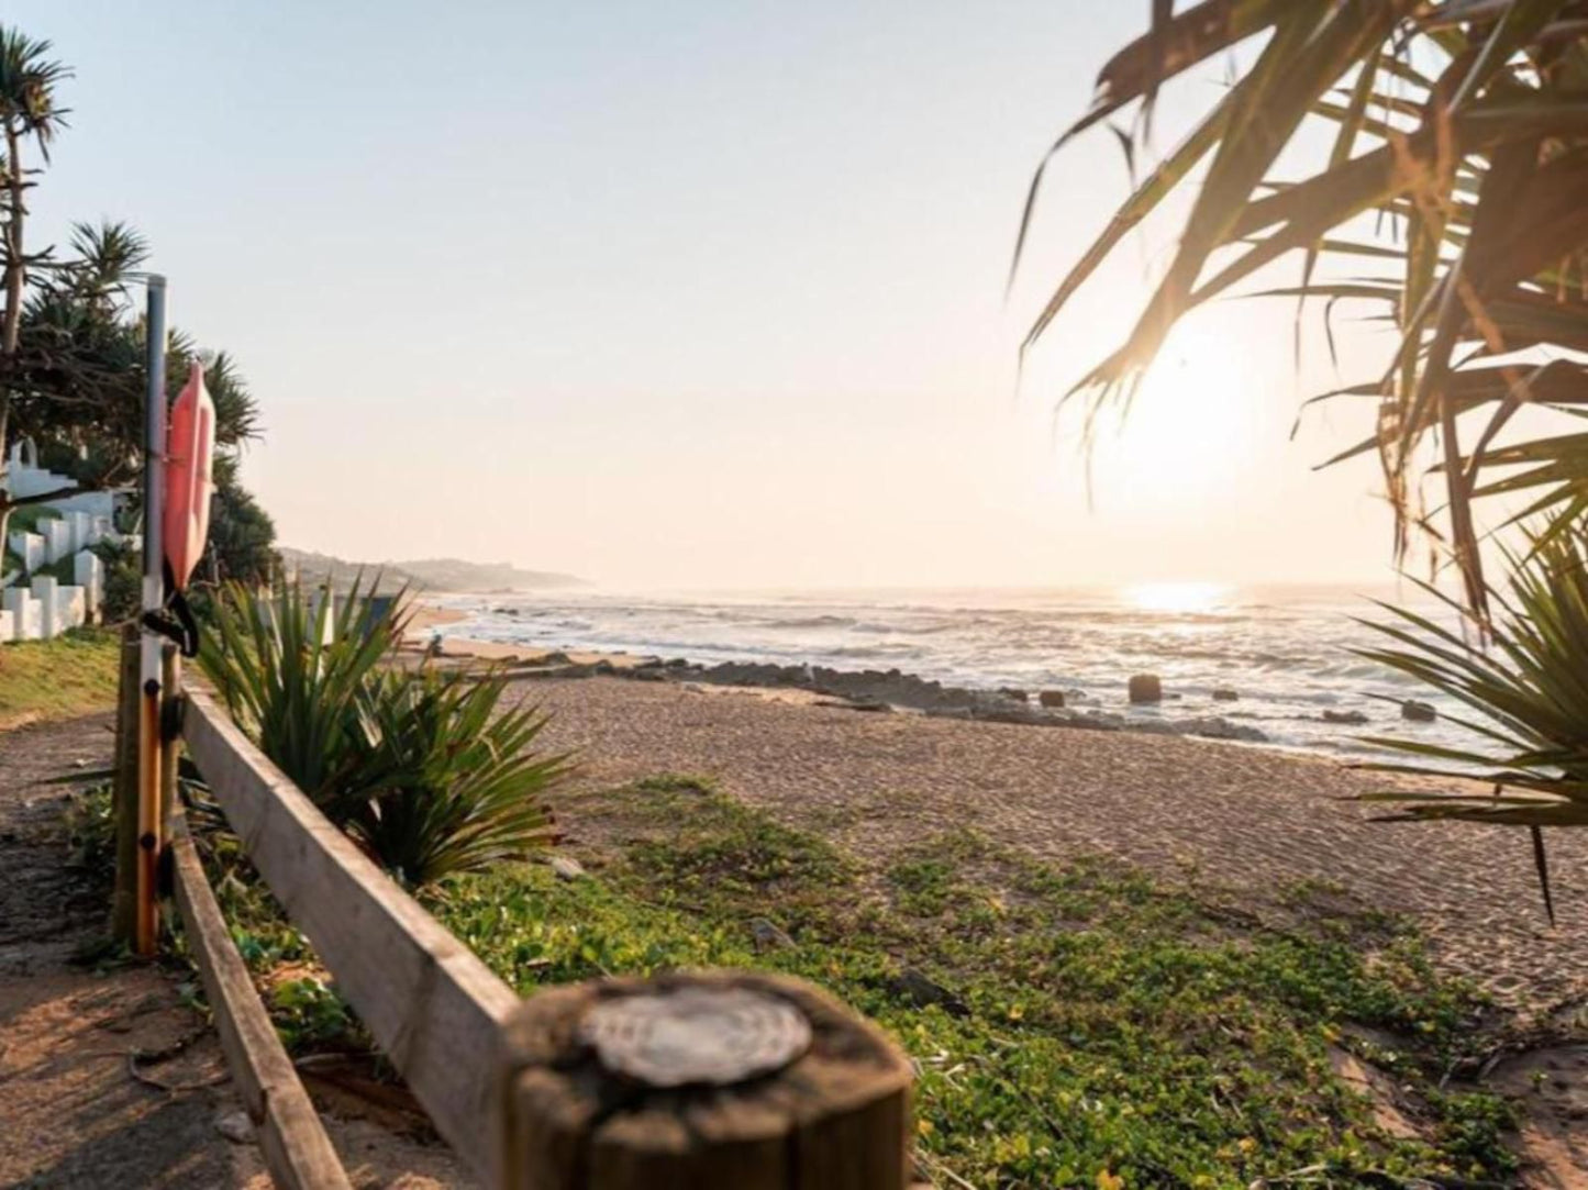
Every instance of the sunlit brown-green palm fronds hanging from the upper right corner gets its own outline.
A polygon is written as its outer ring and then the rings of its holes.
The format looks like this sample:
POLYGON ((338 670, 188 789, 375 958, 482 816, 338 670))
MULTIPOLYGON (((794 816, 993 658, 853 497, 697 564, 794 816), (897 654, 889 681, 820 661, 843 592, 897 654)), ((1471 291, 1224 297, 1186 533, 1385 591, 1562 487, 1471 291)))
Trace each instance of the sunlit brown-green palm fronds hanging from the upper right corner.
MULTIPOLYGON (((1364 446, 1383 462, 1397 556, 1418 520, 1418 446, 1437 432, 1448 493, 1443 537, 1466 601, 1482 615, 1472 500, 1544 486, 1536 508, 1580 510, 1588 473, 1582 435, 1531 443, 1524 458, 1515 446, 1494 448, 1517 408, 1534 402, 1536 369, 1502 357, 1529 346, 1588 350, 1588 3, 1204 0, 1178 14, 1172 5, 1153 11, 1153 29, 1102 68, 1096 102, 1054 153, 1213 54, 1258 35, 1267 41, 1053 289, 1026 346, 1123 237, 1208 160, 1178 248, 1134 330, 1072 394, 1127 396, 1178 318, 1291 254, 1301 257, 1301 283, 1277 292, 1385 302, 1401 348, 1382 377, 1350 391, 1377 400, 1364 446), (1413 62, 1437 68, 1424 73, 1413 62), (1328 159, 1301 180, 1272 176, 1309 119, 1337 126, 1328 159), (1404 227, 1394 243, 1361 227, 1382 213, 1404 227), (1315 281, 1320 256, 1388 261, 1399 272, 1315 281), (1483 372, 1482 386, 1469 378, 1474 370, 1483 372), (1509 483, 1478 478, 1539 461, 1545 466, 1509 483)), ((1016 265, 1040 181, 1039 168, 1016 265)), ((1583 364, 1561 359, 1556 369, 1571 373, 1580 404, 1583 364)))

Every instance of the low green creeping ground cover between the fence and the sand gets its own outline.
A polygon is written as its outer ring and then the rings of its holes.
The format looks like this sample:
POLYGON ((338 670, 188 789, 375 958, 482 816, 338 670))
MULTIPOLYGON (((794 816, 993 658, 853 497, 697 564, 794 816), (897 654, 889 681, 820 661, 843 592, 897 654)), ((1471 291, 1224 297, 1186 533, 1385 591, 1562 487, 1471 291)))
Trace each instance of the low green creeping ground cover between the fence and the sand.
POLYGON ((1510 1104, 1437 1090, 1483 1004, 1383 918, 1315 906, 1264 928, 1120 864, 1046 864, 967 833, 862 879, 826 840, 681 777, 573 817, 610 840, 594 879, 502 869, 448 882, 432 910, 521 993, 688 966, 827 987, 916 1060, 924 1163, 970 1185, 1512 1171, 1510 1104), (761 949, 761 918, 794 944, 761 949), (923 976, 948 995, 923 998, 923 976), (1351 1025, 1399 1039, 1397 1107, 1420 1139, 1385 1131, 1332 1072, 1351 1025))

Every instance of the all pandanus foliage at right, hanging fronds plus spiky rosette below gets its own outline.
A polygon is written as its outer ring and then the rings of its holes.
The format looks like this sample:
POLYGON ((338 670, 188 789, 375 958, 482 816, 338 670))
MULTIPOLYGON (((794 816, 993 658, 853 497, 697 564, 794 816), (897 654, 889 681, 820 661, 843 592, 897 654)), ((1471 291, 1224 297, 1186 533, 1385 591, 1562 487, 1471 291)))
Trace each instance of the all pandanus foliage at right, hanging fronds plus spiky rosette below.
MULTIPOLYGON (((1459 577, 1464 618, 1456 636, 1390 624, 1397 640, 1378 656, 1478 712, 1493 747, 1440 759, 1482 759, 1507 788, 1497 801, 1407 801, 1405 813, 1588 823, 1588 2, 1202 0, 1177 13, 1154 0, 1148 32, 1104 65, 1048 160, 1140 105, 1148 119, 1120 132, 1134 146, 1169 79, 1242 43, 1250 62, 1056 281, 1024 346, 1193 183, 1134 327, 1067 399, 1127 399, 1175 323, 1237 288, 1299 308, 1378 303, 1397 330, 1388 367, 1320 397, 1372 408, 1340 458, 1377 451, 1396 559, 1426 531, 1459 577), (1309 122, 1332 129, 1331 148, 1302 176, 1278 176, 1286 149, 1286 162, 1307 156, 1309 122), (1299 275, 1269 284, 1282 262, 1299 275), (1475 515, 1491 497, 1505 497, 1493 504, 1502 526, 1531 518, 1502 554, 1515 570, 1505 601, 1485 575, 1475 515)), ((1040 183, 1042 168, 1016 267, 1040 183)))

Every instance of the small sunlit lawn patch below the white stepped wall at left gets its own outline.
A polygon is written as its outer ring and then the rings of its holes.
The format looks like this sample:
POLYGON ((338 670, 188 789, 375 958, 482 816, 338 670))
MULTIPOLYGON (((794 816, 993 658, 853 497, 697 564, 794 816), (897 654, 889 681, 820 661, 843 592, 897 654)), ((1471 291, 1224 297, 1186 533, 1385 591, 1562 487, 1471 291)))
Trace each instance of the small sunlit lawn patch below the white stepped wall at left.
POLYGON ((103 629, 0 645, 0 731, 114 707, 118 651, 103 629))

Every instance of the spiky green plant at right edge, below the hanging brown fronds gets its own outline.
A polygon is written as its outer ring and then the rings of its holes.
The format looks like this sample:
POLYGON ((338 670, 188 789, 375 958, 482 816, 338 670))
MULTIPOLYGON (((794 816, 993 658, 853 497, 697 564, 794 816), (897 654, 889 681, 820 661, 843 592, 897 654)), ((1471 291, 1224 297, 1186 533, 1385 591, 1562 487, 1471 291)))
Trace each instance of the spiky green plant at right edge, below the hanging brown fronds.
MULTIPOLYGON (((1483 780, 1491 793, 1393 790, 1366 801, 1393 802, 1391 818, 1459 818, 1532 828, 1534 863, 1545 907, 1555 917, 1540 828, 1588 825, 1588 529, 1550 526, 1534 548, 1512 556, 1509 594, 1496 607, 1482 647, 1415 612, 1369 626, 1393 642, 1359 650, 1463 702, 1474 717, 1451 717, 1474 736, 1469 748, 1421 740, 1370 742, 1420 758, 1366 767, 1429 777, 1483 780)), ((1448 596, 1424 589, 1459 610, 1448 596)), ((1367 623, 1367 621, 1364 621, 1367 623)))

